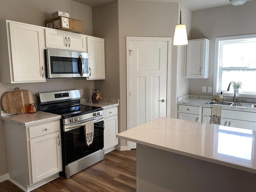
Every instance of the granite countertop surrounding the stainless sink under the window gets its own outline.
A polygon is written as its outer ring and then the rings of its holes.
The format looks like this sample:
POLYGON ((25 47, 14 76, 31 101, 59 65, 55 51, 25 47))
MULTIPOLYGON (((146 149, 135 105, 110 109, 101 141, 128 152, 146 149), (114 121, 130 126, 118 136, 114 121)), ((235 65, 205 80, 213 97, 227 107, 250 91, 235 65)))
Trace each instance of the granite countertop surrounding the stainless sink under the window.
MULTIPOLYGON (((186 95, 178 98, 178 104, 212 108, 212 104, 206 104, 206 102, 210 100, 214 100, 214 98, 216 98, 216 96, 186 95)), ((226 97, 226 101, 232 101, 232 99, 233 97, 226 97)), ((255 103, 256 99, 240 98, 240 100, 238 100, 237 102, 255 103)), ((222 105, 222 109, 256 112, 256 108, 227 106, 227 105, 222 105)))

